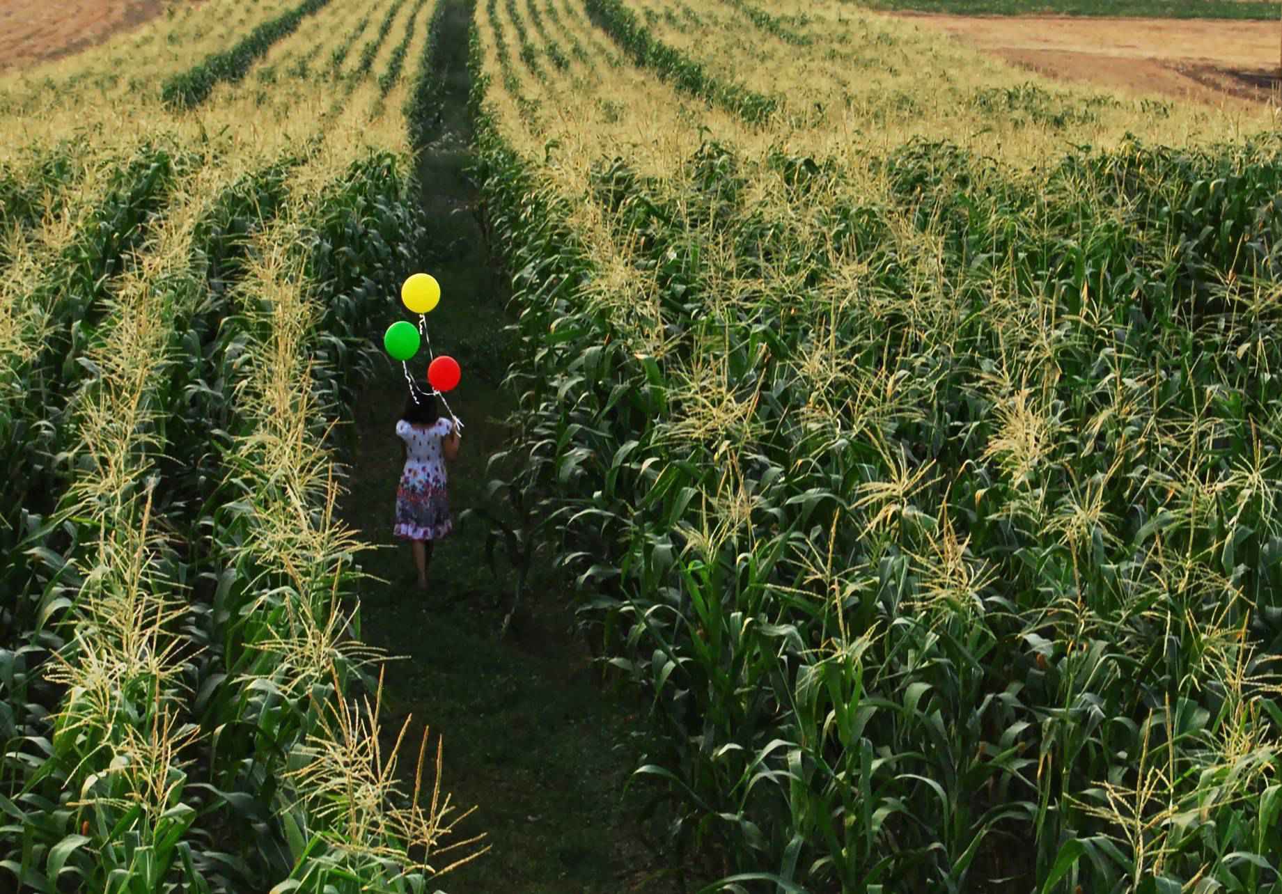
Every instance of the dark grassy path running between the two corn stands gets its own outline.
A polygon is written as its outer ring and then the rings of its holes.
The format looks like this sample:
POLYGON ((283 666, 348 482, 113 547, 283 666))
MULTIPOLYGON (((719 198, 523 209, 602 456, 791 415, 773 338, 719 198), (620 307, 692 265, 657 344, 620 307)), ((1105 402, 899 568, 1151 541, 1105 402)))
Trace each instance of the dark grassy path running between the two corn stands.
MULTIPOLYGON (((463 0, 442 1, 451 6, 440 42, 447 96, 437 139, 419 148, 418 174, 437 255, 423 268, 441 282, 428 333, 436 351, 451 354, 463 369, 449 395, 465 426, 450 469, 458 522, 463 509, 485 500, 486 460, 510 435, 503 418, 513 399, 500 387, 510 351, 503 333, 510 322, 508 285, 487 257, 470 212, 476 189, 464 174, 468 9, 463 0)), ((387 322, 372 321, 370 337, 381 339, 387 322)), ((394 427, 405 394, 400 366, 388 363, 354 408, 355 448, 341 510, 379 546, 363 554, 362 567, 387 581, 362 587, 362 639, 404 657, 387 664, 385 734, 395 736, 413 714, 408 741, 418 741, 424 722, 433 748, 444 736, 442 791, 463 809, 478 807, 454 840, 486 832, 491 845, 435 888, 450 894, 669 890, 653 879, 655 861, 636 835, 638 795, 629 794, 627 803, 619 797, 628 758, 617 745, 627 740, 637 708, 599 685, 587 649, 570 634, 569 611, 559 593, 549 591, 551 577, 536 580, 529 611, 517 616, 500 643, 512 582, 491 573, 485 527, 469 519, 437 548, 427 600, 414 587, 409 548, 391 536, 401 468, 394 427)), ((404 763, 412 764, 413 755, 404 763)))

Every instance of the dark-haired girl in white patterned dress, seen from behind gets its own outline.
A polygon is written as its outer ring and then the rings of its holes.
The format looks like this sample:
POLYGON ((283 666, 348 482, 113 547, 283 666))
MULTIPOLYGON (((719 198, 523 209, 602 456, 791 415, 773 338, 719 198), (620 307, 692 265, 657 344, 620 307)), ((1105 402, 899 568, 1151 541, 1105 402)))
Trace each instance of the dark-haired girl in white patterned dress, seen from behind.
POLYGON ((459 455, 459 432, 453 419, 440 417, 436 395, 414 386, 396 423, 405 471, 396 489, 396 525, 392 534, 409 540, 418 568, 418 587, 427 589, 427 563, 432 544, 450 532, 450 498, 445 489, 445 462, 459 455))

